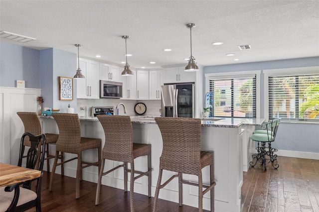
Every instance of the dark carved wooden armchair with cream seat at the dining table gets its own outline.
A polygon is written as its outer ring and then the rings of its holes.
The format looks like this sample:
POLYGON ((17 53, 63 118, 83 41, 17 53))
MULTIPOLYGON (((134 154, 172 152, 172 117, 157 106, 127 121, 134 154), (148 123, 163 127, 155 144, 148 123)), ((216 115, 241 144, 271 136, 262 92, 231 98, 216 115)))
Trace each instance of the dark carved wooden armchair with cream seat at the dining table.
MULTIPOLYGON (((24 152, 24 142, 25 140, 30 142, 30 148, 28 149, 26 155, 26 168, 34 169, 39 162, 39 168, 42 172, 44 163, 44 150, 46 138, 44 134, 33 135, 31 133, 24 133, 21 138, 20 153, 18 166, 22 165, 22 158, 24 152), (42 146, 42 150, 39 149, 42 146)), ((6 212, 22 212, 33 207, 36 207, 37 212, 41 212, 41 183, 42 175, 30 181, 17 183, 11 186, 0 188, 0 208, 1 211, 4 209, 6 212), (36 181, 35 191, 31 190, 32 182, 36 181), (22 185, 22 187, 20 187, 22 185), (13 192, 14 191, 14 192, 13 192)))

